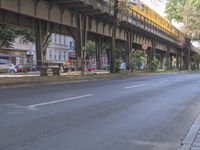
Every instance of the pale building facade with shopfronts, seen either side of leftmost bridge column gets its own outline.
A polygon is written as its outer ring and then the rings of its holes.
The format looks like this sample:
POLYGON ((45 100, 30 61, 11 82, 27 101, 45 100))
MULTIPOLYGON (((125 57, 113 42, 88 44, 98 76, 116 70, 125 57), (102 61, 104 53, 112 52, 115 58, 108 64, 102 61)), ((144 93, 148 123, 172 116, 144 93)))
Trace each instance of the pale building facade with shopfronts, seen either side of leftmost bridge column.
MULTIPOLYGON (((50 43, 46 51, 48 61, 68 61, 75 55, 74 40, 71 37, 52 34, 50 43)), ((37 62, 35 44, 16 38, 13 47, 0 50, 0 58, 10 59, 13 64, 26 64, 27 62, 37 62)))

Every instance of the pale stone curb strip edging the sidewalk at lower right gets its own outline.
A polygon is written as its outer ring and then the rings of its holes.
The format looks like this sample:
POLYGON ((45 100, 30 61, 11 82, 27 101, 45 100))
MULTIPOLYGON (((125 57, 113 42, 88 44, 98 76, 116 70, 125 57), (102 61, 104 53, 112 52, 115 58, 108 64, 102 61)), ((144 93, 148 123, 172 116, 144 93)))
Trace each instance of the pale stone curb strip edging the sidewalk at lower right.
MULTIPOLYGON (((191 128, 189 129, 185 139, 181 143, 181 147, 178 150, 192 150, 193 143, 195 142, 195 138, 200 130, 200 114, 198 114, 191 128)), ((198 147, 200 149, 200 147, 198 147)))

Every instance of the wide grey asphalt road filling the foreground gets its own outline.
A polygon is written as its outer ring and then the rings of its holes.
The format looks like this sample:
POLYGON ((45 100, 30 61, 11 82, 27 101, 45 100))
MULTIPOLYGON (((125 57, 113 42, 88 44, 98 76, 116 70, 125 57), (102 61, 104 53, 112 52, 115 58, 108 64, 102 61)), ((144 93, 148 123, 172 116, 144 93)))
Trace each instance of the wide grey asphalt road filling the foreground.
POLYGON ((200 74, 0 89, 0 150, 176 150, 200 74))

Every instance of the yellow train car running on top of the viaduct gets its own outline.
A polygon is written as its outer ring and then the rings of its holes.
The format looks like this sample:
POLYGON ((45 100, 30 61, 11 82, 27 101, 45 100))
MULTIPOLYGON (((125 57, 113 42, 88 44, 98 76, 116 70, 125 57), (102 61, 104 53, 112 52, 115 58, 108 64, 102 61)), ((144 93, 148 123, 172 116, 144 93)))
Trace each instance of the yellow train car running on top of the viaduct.
POLYGON ((137 0, 136 5, 132 4, 130 6, 129 13, 143 21, 147 21, 153 26, 157 26, 164 32, 167 32, 176 38, 179 37, 179 30, 177 28, 139 0, 137 0))

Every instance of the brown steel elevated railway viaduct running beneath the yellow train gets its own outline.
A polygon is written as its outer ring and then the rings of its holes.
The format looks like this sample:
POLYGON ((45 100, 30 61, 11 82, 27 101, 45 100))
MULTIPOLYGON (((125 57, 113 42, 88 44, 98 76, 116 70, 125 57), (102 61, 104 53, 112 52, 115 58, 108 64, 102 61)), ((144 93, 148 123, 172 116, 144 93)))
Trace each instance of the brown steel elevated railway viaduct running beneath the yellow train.
MULTIPOLYGON (((113 13, 111 0, 0 0, 1 24, 35 30, 38 60, 43 59, 42 47, 50 33, 58 33, 74 38, 78 62, 85 57, 86 41, 95 41, 96 59, 100 61, 102 49, 111 42, 113 13)), ((170 32, 135 9, 120 14, 118 22, 117 43, 127 51, 127 58, 132 49, 145 45, 149 60, 156 54, 161 56, 159 59, 176 57, 180 66, 183 54, 176 29, 176 34, 170 32)))

